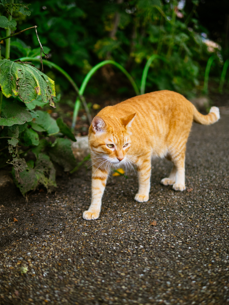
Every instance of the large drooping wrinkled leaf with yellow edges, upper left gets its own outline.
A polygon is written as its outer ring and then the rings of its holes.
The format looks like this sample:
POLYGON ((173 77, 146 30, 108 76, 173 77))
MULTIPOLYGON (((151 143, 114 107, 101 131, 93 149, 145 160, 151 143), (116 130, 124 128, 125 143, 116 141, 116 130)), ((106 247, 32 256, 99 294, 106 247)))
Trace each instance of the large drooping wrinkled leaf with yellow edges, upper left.
POLYGON ((33 66, 16 63, 7 59, 0 60, 0 86, 6 97, 12 93, 19 95, 25 103, 29 103, 41 95, 44 103, 49 101, 54 107, 54 81, 33 66))

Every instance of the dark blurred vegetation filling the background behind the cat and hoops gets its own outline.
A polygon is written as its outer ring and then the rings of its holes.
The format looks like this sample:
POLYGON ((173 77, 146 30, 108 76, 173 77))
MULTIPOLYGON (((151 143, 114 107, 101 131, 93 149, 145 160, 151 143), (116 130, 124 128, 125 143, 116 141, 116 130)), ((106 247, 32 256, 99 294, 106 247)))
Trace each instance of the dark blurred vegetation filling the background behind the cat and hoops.
MULTIPOLYGON (((213 54, 202 42, 201 33, 205 33, 221 46, 220 51, 216 50, 218 61, 213 63, 210 73, 210 81, 214 82, 211 87, 218 87, 222 66, 228 57, 229 5, 226 0, 186 1, 184 9, 180 9, 184 17, 176 16, 174 29, 154 6, 160 4, 159 0, 28 3, 31 4, 30 16, 23 16, 21 21, 17 17, 22 16, 14 16, 18 30, 37 25, 42 45, 51 50, 50 60, 66 70, 78 86, 91 67, 104 59, 114 59, 123 65, 140 86, 146 60, 157 53, 168 59, 170 65, 154 61, 149 69, 146 92, 169 89, 188 98, 200 95, 206 62, 213 54), (193 14, 189 16, 190 13, 193 14)), ((161 2, 160 8, 172 18, 177 3, 166 0, 161 2)), ((13 39, 21 39, 31 48, 39 46, 33 30, 13 39)), ((20 56, 25 56, 23 50, 11 48, 11 59, 20 56)), ((55 80, 57 93, 67 95, 74 102, 75 93, 68 81, 47 66, 45 73, 55 80)), ((85 95, 98 101, 130 97, 134 91, 121 72, 105 66, 92 78, 85 95)), ((69 100, 68 104, 73 106, 69 100)))

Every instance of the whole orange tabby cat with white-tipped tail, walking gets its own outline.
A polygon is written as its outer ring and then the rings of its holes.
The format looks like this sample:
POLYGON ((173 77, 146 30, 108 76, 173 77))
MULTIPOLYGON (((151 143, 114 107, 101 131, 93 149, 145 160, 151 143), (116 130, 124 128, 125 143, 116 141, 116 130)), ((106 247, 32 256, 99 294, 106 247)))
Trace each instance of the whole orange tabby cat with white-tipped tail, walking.
POLYGON ((149 199, 151 158, 166 157, 174 165, 161 183, 173 185, 176 191, 185 190, 184 160, 191 124, 209 125, 219 118, 217 107, 202 115, 183 95, 168 90, 138 95, 102 109, 89 128, 92 197, 83 218, 98 218, 110 168, 135 165, 139 188, 134 199, 143 202, 149 199))

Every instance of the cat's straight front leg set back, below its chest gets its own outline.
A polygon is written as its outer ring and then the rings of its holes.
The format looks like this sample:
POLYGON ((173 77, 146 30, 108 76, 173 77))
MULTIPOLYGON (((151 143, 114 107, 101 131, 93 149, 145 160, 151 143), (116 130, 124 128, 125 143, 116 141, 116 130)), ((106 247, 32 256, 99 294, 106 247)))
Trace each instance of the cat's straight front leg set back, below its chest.
POLYGON ((144 202, 149 200, 150 176, 151 176, 151 158, 150 155, 143 160, 139 160, 138 164, 138 193, 135 195, 135 200, 144 202))

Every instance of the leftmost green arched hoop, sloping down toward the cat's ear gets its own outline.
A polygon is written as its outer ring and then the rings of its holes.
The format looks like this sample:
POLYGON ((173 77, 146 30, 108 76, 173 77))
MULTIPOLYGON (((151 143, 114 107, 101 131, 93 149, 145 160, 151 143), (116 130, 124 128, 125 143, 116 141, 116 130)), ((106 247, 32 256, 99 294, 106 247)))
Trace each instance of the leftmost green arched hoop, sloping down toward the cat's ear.
MULTIPOLYGON (((21 57, 20 60, 21 61, 31 60, 31 61, 40 62, 40 58, 34 58, 34 57, 21 57)), ((65 72, 61 67, 57 66, 55 63, 52 63, 50 61, 43 61, 43 65, 49 66, 49 68, 55 68, 56 70, 58 70, 61 74, 63 74, 66 77, 66 79, 70 82, 70 84, 73 86, 73 88, 75 89, 75 91, 79 95, 79 98, 81 99, 81 102, 84 105, 84 109, 86 110, 86 113, 87 113, 87 116, 88 116, 88 121, 91 123, 91 121, 92 121, 91 114, 90 114, 90 111, 88 109, 88 105, 85 101, 85 98, 84 98, 83 95, 80 94, 77 84, 73 81, 73 79, 70 77, 70 75, 67 74, 67 72, 65 72)))

